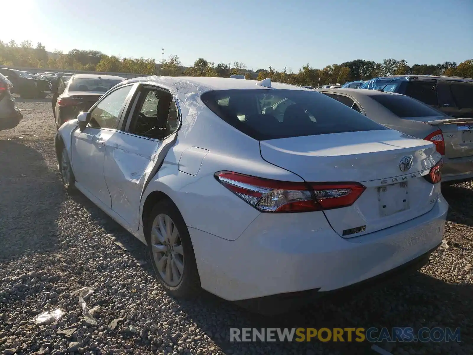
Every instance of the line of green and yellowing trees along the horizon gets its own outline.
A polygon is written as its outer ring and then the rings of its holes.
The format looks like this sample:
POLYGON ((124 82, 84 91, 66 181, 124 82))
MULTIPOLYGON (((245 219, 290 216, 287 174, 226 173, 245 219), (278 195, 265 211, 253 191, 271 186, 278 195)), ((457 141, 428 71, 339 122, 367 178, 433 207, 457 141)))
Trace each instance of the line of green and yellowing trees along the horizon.
POLYGON ((357 59, 341 64, 327 65, 316 69, 307 63, 297 72, 286 67, 278 70, 272 66, 268 69, 248 70, 245 63, 233 64, 209 62, 204 58, 197 59, 191 67, 184 67, 177 55, 170 55, 162 63, 156 64, 153 58, 120 58, 109 56, 100 51, 73 49, 69 53, 56 51, 46 52, 43 44, 33 47, 31 41, 23 41, 19 45, 15 41, 3 43, 0 41, 0 65, 13 67, 47 68, 57 70, 84 70, 102 72, 138 73, 144 75, 169 76, 213 76, 229 77, 230 75, 245 75, 246 79, 273 81, 294 85, 311 85, 345 83, 354 80, 369 80, 387 75, 449 75, 473 78, 473 59, 457 64, 444 62, 439 64, 413 64, 402 59, 385 59, 377 63, 357 59))

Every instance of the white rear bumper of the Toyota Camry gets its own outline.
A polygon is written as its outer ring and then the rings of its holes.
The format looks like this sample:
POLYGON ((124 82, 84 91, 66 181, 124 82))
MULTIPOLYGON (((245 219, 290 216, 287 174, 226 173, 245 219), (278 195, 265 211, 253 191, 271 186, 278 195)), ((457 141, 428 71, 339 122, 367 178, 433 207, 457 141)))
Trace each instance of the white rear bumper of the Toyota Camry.
POLYGON ((439 195, 428 213, 348 239, 319 212, 262 213, 234 241, 193 228, 189 232, 202 288, 241 301, 337 290, 409 263, 441 242, 447 210, 439 195))

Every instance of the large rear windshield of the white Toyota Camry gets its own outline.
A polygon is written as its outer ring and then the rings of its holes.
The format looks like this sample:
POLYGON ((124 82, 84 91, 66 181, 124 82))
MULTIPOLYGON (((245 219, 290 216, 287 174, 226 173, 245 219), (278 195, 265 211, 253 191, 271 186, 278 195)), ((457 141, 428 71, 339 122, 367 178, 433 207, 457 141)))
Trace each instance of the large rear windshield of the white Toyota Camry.
POLYGON ((201 99, 228 124, 258 141, 387 129, 308 90, 217 90, 202 94, 201 99))

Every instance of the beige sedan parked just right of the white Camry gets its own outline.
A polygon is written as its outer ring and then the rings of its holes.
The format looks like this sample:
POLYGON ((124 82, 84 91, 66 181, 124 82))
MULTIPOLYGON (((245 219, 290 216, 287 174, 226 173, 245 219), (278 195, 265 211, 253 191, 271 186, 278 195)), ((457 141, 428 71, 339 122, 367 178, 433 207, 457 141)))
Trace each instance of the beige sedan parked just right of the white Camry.
POLYGON ((442 181, 473 179, 473 119, 454 118, 405 95, 359 89, 320 92, 413 137, 433 142, 444 161, 442 181))

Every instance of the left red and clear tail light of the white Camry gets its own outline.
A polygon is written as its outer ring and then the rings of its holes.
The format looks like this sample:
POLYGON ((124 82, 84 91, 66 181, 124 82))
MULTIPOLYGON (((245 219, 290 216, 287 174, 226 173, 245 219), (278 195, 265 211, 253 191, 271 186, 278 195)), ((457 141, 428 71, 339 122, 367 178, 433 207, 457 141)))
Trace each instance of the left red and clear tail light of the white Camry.
POLYGON ((346 207, 352 205, 366 188, 356 182, 288 182, 231 171, 219 171, 215 177, 261 212, 309 212, 346 207))

